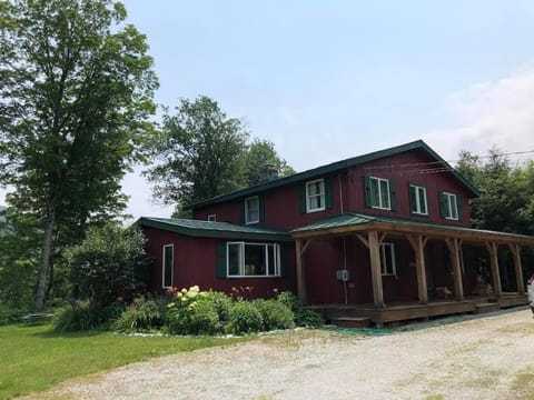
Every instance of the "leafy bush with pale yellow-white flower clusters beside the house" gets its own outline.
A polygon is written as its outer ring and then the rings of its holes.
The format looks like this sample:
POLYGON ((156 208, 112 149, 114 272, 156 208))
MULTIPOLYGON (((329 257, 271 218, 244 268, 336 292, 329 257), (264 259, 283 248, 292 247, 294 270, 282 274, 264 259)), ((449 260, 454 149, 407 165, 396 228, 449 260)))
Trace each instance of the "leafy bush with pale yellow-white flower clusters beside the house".
POLYGON ((182 289, 168 306, 168 331, 172 334, 221 333, 229 301, 224 293, 200 292, 197 286, 182 289))

